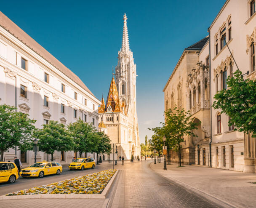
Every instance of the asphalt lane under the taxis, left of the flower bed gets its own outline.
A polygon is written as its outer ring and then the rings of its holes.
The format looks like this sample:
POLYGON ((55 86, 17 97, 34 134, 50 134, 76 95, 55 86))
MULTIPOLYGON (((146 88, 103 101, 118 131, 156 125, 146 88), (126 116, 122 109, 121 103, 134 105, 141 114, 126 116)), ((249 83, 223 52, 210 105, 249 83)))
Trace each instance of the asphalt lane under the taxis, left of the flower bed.
POLYGON ((112 168, 112 165, 107 162, 101 163, 100 165, 96 165, 94 169, 88 168, 85 169, 84 171, 69 171, 68 165, 63 165, 63 171, 59 176, 44 176, 42 179, 19 177, 19 179, 14 184, 2 183, 0 184, 0 196, 8 194, 10 192, 16 192, 22 189, 29 189, 35 186, 51 184, 54 182, 63 181, 65 179, 72 179, 76 176, 83 176, 90 173, 96 173, 110 168, 112 168))

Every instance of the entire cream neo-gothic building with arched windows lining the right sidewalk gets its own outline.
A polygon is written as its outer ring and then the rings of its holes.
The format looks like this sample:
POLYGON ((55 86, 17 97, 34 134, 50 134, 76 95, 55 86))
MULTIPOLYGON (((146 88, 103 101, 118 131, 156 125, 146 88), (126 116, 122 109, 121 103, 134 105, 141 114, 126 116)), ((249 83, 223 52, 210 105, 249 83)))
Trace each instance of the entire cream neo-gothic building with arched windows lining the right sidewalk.
MULTIPOLYGON (((256 173, 256 138, 235 131, 229 117, 211 107, 237 66, 244 79, 256 79, 255 0, 226 0, 208 32, 202 47, 196 43, 181 55, 163 90, 165 109, 176 104, 201 122, 198 137, 184 137, 184 163, 256 173)), ((172 160, 177 160, 175 153, 172 160)))

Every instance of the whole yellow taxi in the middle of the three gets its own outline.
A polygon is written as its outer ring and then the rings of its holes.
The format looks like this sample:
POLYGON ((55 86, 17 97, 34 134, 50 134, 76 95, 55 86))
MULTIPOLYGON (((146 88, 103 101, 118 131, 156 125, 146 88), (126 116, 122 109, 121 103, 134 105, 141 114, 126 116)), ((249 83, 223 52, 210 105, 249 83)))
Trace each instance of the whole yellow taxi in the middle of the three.
POLYGON ((27 168, 23 168, 20 172, 20 176, 24 177, 38 177, 43 178, 45 175, 56 174, 59 175, 62 172, 62 165, 57 162, 42 162, 30 165, 27 168))

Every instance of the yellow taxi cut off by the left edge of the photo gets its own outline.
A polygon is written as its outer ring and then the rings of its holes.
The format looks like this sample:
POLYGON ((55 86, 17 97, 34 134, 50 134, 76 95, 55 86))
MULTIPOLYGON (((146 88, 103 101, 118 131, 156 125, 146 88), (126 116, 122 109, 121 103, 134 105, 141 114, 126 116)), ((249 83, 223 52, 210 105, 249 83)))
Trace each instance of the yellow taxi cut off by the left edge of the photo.
POLYGON ((15 163, 0 162, 0 183, 14 183, 19 178, 19 170, 15 163))

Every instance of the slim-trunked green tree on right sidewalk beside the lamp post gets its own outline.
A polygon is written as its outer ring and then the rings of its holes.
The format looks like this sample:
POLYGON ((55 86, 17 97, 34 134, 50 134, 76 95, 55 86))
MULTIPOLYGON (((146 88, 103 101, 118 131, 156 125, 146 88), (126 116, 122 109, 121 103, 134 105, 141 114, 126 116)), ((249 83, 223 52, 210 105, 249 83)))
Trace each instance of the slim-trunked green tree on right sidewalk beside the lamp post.
POLYGON ((184 109, 177 109, 175 107, 173 110, 168 109, 165 111, 165 123, 163 128, 163 133, 167 137, 171 138, 172 148, 179 152, 179 166, 181 167, 181 143, 184 142, 184 136, 192 135, 194 129, 197 129, 198 123, 193 123, 192 115, 190 112, 185 112, 184 109))

